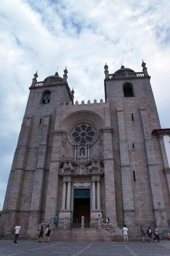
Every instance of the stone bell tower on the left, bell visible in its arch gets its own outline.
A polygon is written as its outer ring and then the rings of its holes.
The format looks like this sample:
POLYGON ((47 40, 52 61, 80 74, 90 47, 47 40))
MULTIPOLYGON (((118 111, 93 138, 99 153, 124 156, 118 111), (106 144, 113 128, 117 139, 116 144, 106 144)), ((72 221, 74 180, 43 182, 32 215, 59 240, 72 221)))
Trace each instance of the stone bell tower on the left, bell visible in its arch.
POLYGON ((63 78, 56 72, 44 81, 37 81, 36 72, 32 79, 3 206, 1 227, 6 235, 11 234, 17 221, 29 235, 32 227, 36 229, 44 218, 43 191, 49 171, 55 114, 60 105, 74 104, 74 90, 68 86, 67 73, 65 68, 63 78))

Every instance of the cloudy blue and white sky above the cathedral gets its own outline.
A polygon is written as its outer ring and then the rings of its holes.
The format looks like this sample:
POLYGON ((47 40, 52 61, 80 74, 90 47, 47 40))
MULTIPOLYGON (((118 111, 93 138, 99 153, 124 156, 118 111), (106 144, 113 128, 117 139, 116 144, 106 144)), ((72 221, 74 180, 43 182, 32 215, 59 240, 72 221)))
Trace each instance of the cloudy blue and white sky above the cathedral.
POLYGON ((33 74, 67 66, 75 101, 104 96, 104 65, 151 76, 162 128, 170 128, 169 0, 0 0, 0 209, 33 74))

